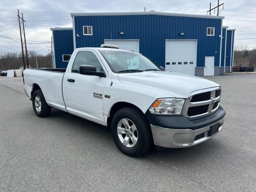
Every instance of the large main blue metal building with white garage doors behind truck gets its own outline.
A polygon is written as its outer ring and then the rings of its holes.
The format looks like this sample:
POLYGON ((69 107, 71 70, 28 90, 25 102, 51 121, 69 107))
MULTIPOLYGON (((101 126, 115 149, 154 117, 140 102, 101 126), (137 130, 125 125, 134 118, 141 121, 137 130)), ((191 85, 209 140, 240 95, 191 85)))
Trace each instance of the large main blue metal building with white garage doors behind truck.
MULTIPOLYGON (((112 37, 112 44, 140 52, 166 71, 197 76, 224 73, 226 34, 222 16, 155 11, 71 13, 71 16, 74 48, 110 44, 112 37)), ((57 61, 57 55, 63 54, 59 49, 63 47, 54 49, 56 67, 63 64, 57 61)))

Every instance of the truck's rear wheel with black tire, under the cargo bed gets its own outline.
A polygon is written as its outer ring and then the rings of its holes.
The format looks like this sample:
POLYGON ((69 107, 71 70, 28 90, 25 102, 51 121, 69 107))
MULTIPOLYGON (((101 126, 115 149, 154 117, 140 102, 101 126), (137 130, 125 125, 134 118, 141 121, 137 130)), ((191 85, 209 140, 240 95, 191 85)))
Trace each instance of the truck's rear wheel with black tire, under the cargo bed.
POLYGON ((46 117, 51 112, 52 108, 46 103, 42 90, 36 90, 33 93, 32 104, 34 112, 38 117, 46 117), (38 105, 40 106, 40 108, 38 107, 38 105))

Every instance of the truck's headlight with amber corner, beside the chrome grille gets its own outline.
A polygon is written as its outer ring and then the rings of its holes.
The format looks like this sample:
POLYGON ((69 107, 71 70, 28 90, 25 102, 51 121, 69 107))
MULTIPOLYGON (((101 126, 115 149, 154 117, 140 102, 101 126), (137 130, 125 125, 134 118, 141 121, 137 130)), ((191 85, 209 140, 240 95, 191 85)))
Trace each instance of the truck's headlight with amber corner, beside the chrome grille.
POLYGON ((185 99, 165 98, 156 100, 149 111, 152 114, 179 115, 182 112, 185 99))

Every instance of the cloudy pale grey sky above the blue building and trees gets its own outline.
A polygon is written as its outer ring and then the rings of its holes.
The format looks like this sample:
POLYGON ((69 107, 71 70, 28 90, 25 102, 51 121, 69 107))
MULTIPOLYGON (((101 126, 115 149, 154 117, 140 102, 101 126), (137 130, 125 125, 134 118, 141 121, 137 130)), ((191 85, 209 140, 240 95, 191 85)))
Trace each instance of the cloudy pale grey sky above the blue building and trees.
MULTIPOLYGON (((210 2, 218 0, 0 0, 0 54, 21 52, 17 9, 26 20, 28 50, 48 54, 51 27, 72 27, 70 13, 76 12, 156 12, 206 15, 210 2)), ((236 29, 235 46, 256 48, 256 0, 220 0, 223 26, 236 29)), ((214 13, 214 11, 213 11, 214 13)), ((215 10, 215 15, 217 9, 215 10)))

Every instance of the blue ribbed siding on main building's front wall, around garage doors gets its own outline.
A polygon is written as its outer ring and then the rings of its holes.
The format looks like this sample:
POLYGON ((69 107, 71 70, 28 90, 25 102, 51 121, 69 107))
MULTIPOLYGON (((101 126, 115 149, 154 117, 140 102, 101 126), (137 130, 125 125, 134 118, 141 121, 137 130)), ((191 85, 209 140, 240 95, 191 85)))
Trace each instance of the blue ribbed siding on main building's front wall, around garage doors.
POLYGON ((205 56, 220 64, 221 19, 162 15, 76 16, 76 47, 99 47, 104 39, 139 39, 140 52, 165 66, 166 39, 197 39, 197 67, 204 67, 205 56), (91 25, 92 36, 83 35, 83 25, 91 25), (214 36, 206 28, 215 27, 214 36), (120 35, 124 32, 124 35, 120 35), (180 36, 184 32, 184 36, 180 36), (215 53, 217 52, 217 53, 215 53))

